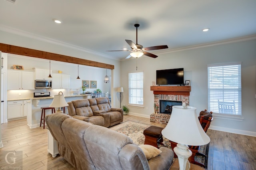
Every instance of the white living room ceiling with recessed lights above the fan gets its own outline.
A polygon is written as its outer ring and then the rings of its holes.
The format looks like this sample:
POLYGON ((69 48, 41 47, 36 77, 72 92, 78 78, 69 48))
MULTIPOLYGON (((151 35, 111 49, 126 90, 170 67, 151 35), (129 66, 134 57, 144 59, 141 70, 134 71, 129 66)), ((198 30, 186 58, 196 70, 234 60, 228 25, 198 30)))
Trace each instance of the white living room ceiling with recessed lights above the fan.
POLYGON ((138 44, 168 45, 148 51, 159 55, 256 35, 256 0, 0 0, 0 30, 113 59, 129 55, 106 50, 130 49, 125 40, 136 43, 136 23, 138 44), (63 23, 54 23, 55 18, 63 23))

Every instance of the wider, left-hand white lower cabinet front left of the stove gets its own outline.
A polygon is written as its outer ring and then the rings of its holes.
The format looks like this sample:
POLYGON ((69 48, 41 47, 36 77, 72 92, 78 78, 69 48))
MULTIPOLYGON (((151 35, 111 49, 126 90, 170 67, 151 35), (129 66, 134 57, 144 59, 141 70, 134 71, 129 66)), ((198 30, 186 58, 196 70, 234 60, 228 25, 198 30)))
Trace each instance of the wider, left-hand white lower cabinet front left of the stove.
POLYGON ((7 103, 7 119, 23 117, 23 101, 8 101, 7 103))

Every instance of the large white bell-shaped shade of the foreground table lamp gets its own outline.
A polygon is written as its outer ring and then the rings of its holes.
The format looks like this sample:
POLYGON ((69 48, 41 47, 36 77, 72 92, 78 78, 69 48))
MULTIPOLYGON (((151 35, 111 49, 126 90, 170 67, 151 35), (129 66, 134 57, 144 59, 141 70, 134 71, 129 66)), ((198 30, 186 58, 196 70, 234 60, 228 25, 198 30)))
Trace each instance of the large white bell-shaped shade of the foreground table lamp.
POLYGON ((204 132, 195 107, 173 106, 172 115, 162 135, 167 139, 185 145, 200 146, 210 142, 209 136, 204 132))

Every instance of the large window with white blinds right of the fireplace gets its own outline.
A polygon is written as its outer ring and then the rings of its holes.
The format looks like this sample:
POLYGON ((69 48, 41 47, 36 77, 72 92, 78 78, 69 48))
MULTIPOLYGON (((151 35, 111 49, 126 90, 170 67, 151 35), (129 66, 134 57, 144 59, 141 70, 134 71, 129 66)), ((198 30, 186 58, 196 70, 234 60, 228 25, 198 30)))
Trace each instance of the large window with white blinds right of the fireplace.
POLYGON ((208 65, 208 110, 241 115, 241 63, 208 65))

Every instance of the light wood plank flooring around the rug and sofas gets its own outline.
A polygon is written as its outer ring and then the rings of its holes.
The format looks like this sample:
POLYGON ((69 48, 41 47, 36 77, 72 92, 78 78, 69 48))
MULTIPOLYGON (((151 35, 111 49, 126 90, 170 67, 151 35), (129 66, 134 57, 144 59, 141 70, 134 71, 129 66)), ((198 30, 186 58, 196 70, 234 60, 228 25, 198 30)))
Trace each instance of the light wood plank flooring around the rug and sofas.
MULTIPOLYGON (((124 121, 128 120, 164 127, 143 117, 124 116, 124 121)), ((26 119, 10 121, 1 128, 4 148, 0 148, 0 169, 9 166, 4 161, 4 151, 15 150, 22 151, 24 170, 74 170, 61 156, 52 158, 48 154, 46 129, 30 129, 26 119)), ((210 129, 207 134, 211 138, 208 170, 256 170, 256 137, 210 129)))

